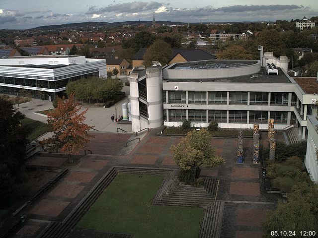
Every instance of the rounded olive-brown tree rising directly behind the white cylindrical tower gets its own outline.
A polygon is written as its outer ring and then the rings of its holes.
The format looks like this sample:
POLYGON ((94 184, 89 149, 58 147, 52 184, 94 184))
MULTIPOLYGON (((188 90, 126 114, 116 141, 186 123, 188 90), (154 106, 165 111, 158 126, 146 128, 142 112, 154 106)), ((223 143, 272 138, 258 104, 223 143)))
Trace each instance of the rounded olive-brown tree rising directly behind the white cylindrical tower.
POLYGON ((153 61, 159 61, 161 65, 165 65, 171 58, 170 45, 163 40, 156 40, 146 51, 144 55, 144 64, 146 67, 152 65, 153 61))

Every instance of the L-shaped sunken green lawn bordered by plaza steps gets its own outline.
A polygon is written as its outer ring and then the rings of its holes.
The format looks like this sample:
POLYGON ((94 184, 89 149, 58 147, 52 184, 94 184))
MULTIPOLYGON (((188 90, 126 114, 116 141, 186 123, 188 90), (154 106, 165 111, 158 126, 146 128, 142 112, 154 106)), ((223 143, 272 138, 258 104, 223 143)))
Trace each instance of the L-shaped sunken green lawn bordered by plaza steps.
POLYGON ((163 176, 118 174, 78 228, 135 234, 134 238, 196 238, 203 208, 153 206, 163 176))

